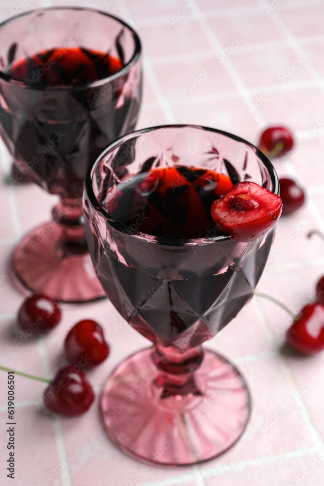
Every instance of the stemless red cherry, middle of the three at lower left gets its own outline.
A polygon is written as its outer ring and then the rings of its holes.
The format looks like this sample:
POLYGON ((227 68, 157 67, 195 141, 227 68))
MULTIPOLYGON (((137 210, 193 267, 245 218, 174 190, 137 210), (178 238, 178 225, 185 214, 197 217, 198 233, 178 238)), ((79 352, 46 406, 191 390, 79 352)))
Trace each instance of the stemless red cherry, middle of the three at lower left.
POLYGON ((91 319, 75 324, 65 339, 64 354, 71 364, 82 359, 87 362, 86 367, 102 363, 109 355, 109 346, 100 324, 91 319))

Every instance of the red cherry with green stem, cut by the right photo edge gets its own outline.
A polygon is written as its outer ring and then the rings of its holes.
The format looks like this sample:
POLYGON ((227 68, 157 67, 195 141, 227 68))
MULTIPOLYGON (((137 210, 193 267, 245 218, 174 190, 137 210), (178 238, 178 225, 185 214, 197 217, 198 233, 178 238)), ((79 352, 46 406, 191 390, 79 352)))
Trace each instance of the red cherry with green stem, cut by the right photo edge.
POLYGON ((316 354, 324 349, 324 306, 307 304, 286 334, 291 347, 305 354, 316 354))

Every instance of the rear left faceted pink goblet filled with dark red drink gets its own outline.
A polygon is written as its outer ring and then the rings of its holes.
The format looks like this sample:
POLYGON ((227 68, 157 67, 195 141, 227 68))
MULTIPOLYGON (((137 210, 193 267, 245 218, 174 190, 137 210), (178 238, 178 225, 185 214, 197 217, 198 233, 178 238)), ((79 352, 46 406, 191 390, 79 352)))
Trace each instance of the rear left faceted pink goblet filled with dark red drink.
POLYGON ((0 135, 21 172, 60 196, 53 220, 14 250, 13 276, 25 293, 66 302, 104 296, 86 244, 83 182, 93 158, 134 130, 141 86, 140 40, 119 18, 53 7, 0 24, 0 135), (74 71, 51 57, 60 48, 81 52, 74 71), (112 56, 118 70, 107 75, 94 51, 112 56), (92 64, 85 69, 82 62, 92 64), (79 81, 80 68, 91 81, 79 81))

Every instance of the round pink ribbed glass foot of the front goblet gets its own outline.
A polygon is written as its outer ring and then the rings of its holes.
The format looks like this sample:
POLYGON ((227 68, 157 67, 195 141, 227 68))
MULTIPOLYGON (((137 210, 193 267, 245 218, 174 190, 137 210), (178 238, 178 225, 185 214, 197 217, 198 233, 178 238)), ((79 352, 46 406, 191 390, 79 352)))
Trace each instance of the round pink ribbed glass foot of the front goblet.
POLYGON ((162 398, 152 348, 133 354, 106 382, 101 407, 110 438, 127 454, 156 466, 196 464, 233 446, 250 417, 239 371, 205 349, 193 377, 200 393, 162 398))

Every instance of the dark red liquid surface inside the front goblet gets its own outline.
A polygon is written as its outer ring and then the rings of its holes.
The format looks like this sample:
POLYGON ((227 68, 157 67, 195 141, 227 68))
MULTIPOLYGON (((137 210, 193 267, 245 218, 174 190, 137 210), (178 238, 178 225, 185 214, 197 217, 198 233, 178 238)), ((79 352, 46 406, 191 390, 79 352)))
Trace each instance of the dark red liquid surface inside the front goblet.
POLYGON ((110 192, 108 212, 125 226, 161 238, 205 238, 222 234, 210 208, 230 191, 227 175, 174 166, 138 174, 110 192))

